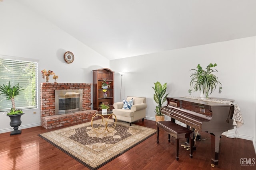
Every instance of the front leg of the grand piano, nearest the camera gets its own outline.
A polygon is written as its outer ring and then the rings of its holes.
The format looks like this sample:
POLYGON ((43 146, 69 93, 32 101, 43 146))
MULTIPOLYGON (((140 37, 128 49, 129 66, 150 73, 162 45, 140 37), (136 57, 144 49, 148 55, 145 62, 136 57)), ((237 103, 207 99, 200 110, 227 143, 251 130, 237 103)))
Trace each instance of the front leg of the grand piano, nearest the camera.
POLYGON ((212 164, 211 166, 214 167, 218 165, 218 157, 219 157, 219 147, 220 147, 220 135, 216 136, 212 133, 211 134, 211 151, 212 151, 212 164))

